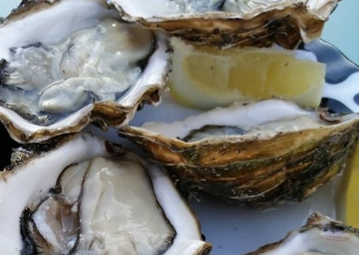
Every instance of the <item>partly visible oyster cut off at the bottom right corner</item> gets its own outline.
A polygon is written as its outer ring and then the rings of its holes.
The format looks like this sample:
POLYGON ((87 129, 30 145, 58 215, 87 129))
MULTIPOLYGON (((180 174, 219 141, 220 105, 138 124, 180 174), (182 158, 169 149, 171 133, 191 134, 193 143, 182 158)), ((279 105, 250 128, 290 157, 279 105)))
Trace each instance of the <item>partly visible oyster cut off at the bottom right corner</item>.
POLYGON ((291 231, 286 238, 267 244, 247 255, 259 254, 331 254, 354 255, 359 249, 359 230, 334 221, 320 213, 313 213, 306 224, 291 231))

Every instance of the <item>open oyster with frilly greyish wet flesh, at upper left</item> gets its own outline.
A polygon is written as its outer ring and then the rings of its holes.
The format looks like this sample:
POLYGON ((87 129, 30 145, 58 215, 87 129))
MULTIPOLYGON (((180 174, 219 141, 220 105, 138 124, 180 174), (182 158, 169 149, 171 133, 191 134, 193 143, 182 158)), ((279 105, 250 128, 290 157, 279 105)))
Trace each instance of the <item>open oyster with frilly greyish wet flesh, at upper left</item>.
POLYGON ((102 0, 26 1, 0 37, 0 118, 21 143, 120 126, 165 85, 165 39, 102 0))

